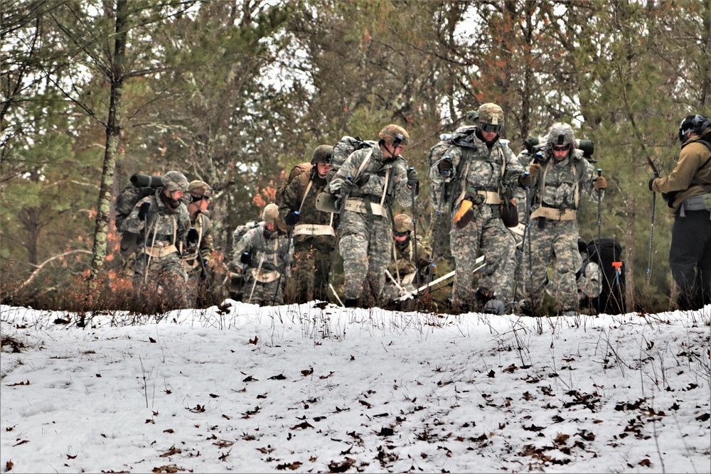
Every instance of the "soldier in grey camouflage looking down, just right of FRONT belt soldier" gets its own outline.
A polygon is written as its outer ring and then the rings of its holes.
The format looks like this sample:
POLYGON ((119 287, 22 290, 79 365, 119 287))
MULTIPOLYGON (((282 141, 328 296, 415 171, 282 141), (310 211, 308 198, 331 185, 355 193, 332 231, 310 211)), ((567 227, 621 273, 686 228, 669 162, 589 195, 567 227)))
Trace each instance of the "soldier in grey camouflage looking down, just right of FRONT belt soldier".
POLYGON ((378 146, 351 153, 328 185, 342 206, 339 249, 348 307, 380 303, 390 264, 391 207, 396 201, 403 207, 411 205, 412 189, 419 185, 417 172, 408 170, 400 156, 410 141, 407 131, 390 124, 378 137, 378 146))

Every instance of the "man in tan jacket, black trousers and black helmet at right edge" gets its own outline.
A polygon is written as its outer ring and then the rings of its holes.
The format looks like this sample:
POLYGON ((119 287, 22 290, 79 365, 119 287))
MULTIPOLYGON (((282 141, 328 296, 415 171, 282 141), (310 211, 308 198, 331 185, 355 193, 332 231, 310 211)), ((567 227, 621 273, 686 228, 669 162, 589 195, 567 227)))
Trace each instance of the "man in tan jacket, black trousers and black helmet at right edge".
POLYGON ((674 212, 669 266, 680 289, 681 310, 711 303, 711 122, 689 115, 679 126, 681 152, 674 170, 652 178, 674 212))

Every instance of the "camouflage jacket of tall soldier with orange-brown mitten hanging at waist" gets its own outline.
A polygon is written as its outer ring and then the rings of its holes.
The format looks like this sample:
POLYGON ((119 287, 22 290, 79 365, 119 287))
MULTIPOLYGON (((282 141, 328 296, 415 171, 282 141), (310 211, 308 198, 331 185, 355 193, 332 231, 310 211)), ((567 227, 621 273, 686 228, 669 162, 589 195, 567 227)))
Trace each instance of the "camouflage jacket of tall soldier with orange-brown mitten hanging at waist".
MULTIPOLYGON (((450 157, 453 165, 447 181, 451 186, 451 198, 448 200, 450 210, 456 208, 460 197, 478 191, 503 193, 525 171, 508 147, 508 140, 498 139, 488 146, 476 136, 476 131, 458 136, 445 156, 450 157)), ((432 191, 437 195, 442 193, 442 186, 445 185, 444 176, 439 172, 439 164, 444 159, 444 156, 439 158, 429 169, 432 191)))

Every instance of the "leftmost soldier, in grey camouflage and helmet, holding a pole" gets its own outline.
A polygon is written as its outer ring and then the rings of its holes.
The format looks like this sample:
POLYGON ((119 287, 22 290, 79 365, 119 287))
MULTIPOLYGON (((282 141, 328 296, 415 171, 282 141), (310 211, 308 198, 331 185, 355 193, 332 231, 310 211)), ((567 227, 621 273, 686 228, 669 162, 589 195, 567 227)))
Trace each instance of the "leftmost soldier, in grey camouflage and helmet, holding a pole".
POLYGON ((141 244, 134 263, 137 297, 160 294, 167 306, 185 308, 188 276, 181 255, 186 250, 190 216, 181 198, 188 180, 179 171, 169 171, 162 181, 162 188, 138 201, 121 230, 137 234, 141 244))

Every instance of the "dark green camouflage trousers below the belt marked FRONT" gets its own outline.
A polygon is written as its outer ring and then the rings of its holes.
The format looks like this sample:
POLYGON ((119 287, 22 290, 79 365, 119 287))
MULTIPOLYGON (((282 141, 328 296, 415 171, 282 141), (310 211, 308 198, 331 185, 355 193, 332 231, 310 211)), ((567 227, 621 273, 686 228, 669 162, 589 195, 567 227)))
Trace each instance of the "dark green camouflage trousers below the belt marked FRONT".
POLYGON ((289 303, 328 301, 328 274, 331 271, 334 240, 330 236, 319 236, 304 242, 294 242, 294 286, 289 289, 289 293, 294 291, 294 294, 287 295, 289 303), (324 237, 331 242, 323 242, 324 237))

